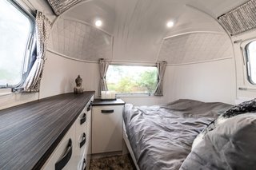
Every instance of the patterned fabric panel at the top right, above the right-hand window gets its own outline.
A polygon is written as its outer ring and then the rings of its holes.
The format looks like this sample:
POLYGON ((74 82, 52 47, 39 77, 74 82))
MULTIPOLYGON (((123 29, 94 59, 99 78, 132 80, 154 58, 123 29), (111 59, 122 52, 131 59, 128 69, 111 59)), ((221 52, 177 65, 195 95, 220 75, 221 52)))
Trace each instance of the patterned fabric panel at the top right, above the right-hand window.
POLYGON ((240 34, 256 28, 256 0, 246 2, 242 6, 218 17, 218 22, 230 33, 240 34))

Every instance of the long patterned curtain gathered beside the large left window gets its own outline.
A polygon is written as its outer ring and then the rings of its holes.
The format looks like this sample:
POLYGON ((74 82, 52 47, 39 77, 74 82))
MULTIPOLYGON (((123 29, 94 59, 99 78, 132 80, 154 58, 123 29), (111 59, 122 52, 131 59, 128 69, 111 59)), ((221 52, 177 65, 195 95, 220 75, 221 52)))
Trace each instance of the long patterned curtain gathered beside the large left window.
POLYGON ((26 81, 22 85, 24 92, 39 92, 40 81, 42 79, 43 67, 46 60, 46 48, 50 34, 51 23, 42 12, 37 12, 36 16, 36 44, 37 58, 26 81))

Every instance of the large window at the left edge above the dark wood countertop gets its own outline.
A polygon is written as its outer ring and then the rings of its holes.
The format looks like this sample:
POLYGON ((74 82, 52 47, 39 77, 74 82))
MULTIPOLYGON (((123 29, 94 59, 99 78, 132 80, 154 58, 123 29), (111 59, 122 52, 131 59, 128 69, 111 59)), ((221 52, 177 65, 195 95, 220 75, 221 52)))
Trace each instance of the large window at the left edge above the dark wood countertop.
POLYGON ((34 18, 14 2, 0 1, 0 87, 25 79, 31 55, 34 18))

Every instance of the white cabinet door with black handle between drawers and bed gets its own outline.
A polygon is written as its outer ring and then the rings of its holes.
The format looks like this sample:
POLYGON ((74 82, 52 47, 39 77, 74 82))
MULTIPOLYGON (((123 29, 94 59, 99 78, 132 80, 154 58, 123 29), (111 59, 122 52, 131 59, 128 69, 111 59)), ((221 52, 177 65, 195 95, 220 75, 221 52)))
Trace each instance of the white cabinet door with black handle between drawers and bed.
POLYGON ((123 105, 94 106, 92 111, 92 153, 122 151, 123 105))

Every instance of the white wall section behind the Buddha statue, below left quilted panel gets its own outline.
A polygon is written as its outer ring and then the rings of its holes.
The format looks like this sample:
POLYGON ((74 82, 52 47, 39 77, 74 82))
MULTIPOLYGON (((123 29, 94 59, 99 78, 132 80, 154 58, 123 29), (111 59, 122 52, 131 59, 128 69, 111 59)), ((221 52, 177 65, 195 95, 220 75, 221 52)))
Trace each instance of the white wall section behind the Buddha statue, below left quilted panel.
POLYGON ((40 87, 40 98, 74 91, 75 78, 82 77, 86 91, 97 90, 99 71, 97 63, 75 61, 47 51, 46 65, 40 87))

